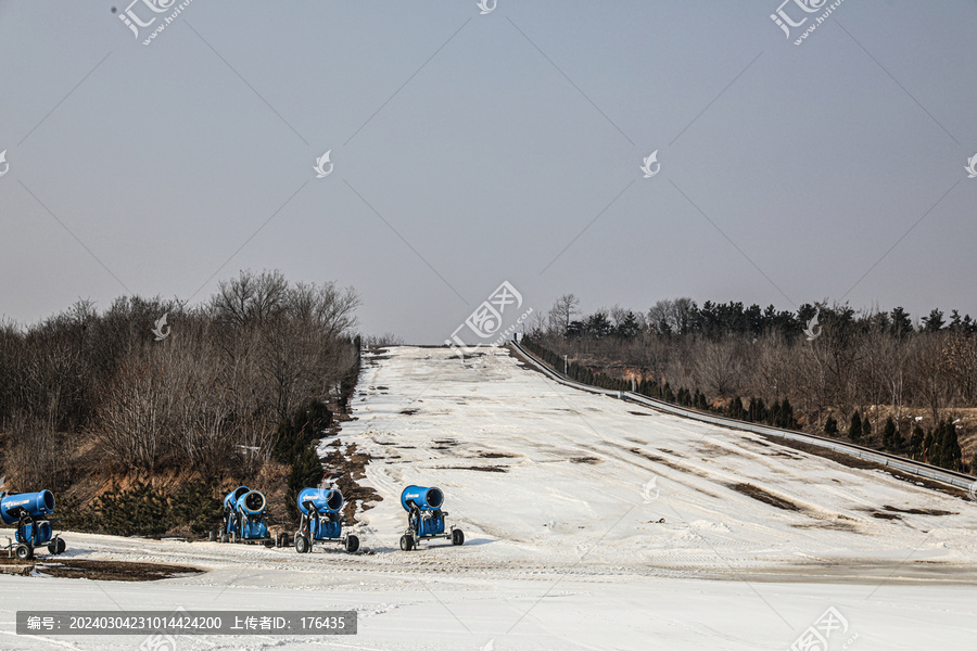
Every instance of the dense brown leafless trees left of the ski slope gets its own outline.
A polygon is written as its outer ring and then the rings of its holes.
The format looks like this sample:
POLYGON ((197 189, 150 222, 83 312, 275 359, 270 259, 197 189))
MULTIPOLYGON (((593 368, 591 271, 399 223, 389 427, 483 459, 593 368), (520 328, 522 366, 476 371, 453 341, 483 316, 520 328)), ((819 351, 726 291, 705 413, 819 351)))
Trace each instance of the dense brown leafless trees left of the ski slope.
POLYGON ((339 397, 358 305, 332 282, 245 271, 194 308, 123 297, 0 323, 4 470, 17 488, 64 485, 87 449, 106 469, 253 472, 299 405, 339 397))

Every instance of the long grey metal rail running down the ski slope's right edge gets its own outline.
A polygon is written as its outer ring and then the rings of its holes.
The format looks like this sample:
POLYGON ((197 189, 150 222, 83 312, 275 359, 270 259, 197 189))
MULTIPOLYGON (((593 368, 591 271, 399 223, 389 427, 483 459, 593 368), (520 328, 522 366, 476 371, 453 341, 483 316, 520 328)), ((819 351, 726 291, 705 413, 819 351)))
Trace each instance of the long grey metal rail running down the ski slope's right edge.
POLYGON ((683 418, 688 418, 705 423, 721 425, 723 427, 743 430, 746 432, 752 432, 753 434, 778 436, 781 438, 787 438, 790 441, 800 441, 810 445, 815 445, 817 447, 842 452, 851 457, 857 457, 859 459, 874 461, 875 463, 879 463, 880 465, 894 468, 896 470, 900 470, 909 474, 914 474, 937 482, 943 482, 944 484, 950 484, 951 486, 963 488, 964 490, 977 490, 977 478, 970 475, 964 474, 962 472, 954 472, 952 470, 937 468, 936 465, 930 465, 921 461, 914 461, 912 459, 906 459, 905 457, 898 457, 888 452, 880 452, 878 450, 873 450, 860 445, 854 445, 853 443, 843 443, 841 441, 825 438, 815 434, 804 434, 803 432, 795 432, 794 430, 782 430, 781 427, 759 425, 757 423, 745 422, 732 418, 725 418, 722 416, 703 413, 694 409, 685 409, 684 407, 678 407, 663 400, 649 398, 648 396, 643 396, 630 391, 614 391, 610 388, 591 386, 589 384, 583 384, 581 382, 570 380, 569 378, 564 378, 560 373, 554 371, 551 368, 549 368, 549 366, 546 365, 546 362, 537 358, 531 352, 523 348, 518 342, 510 342, 510 345, 515 349, 517 349, 520 355, 522 355, 529 362, 543 371, 550 379, 559 382, 560 384, 572 386, 573 388, 579 388, 581 391, 586 391, 595 394, 604 394, 607 396, 620 398, 622 400, 631 400, 633 403, 638 403, 647 407, 651 407, 652 409, 658 409, 659 411, 664 411, 674 416, 681 416, 683 418))

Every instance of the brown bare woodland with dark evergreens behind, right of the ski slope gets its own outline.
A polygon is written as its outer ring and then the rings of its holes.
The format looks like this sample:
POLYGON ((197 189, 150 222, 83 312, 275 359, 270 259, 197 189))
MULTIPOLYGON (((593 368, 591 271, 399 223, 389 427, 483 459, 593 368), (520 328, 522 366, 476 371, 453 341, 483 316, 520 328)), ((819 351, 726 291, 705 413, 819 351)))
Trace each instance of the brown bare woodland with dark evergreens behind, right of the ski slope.
MULTIPOLYGON (((942 324, 935 310, 906 328, 900 310, 893 319, 821 305, 797 316, 771 310, 752 331, 707 332, 690 299, 661 301, 647 312, 616 306, 589 316, 580 315, 578 305, 572 294, 561 296, 529 334, 571 361, 611 376, 698 390, 711 404, 788 398, 808 431, 821 432, 828 414, 843 423, 841 418, 870 407, 884 408, 870 413, 891 414, 903 431, 910 409, 926 410, 936 423, 948 408, 977 407, 977 333, 969 318, 942 324), (804 328, 815 308, 820 322, 811 339, 804 328)), ((878 425, 876 420, 875 432, 878 425)))

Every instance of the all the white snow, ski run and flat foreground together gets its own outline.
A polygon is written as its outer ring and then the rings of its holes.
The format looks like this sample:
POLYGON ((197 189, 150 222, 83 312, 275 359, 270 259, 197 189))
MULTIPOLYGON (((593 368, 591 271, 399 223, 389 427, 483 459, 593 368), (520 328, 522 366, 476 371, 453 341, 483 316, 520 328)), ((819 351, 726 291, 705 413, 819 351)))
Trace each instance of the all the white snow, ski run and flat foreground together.
POLYGON ((973 643, 973 501, 563 387, 505 349, 365 361, 341 437, 373 457, 363 483, 383 498, 360 518, 366 553, 68 534, 74 558, 210 572, 0 576, 0 649, 142 641, 16 637, 16 610, 177 607, 359 612, 355 637, 180 637, 180 650, 783 650, 829 608, 843 629, 828 650, 973 643), (398 550, 408 484, 444 490, 465 546, 398 550))

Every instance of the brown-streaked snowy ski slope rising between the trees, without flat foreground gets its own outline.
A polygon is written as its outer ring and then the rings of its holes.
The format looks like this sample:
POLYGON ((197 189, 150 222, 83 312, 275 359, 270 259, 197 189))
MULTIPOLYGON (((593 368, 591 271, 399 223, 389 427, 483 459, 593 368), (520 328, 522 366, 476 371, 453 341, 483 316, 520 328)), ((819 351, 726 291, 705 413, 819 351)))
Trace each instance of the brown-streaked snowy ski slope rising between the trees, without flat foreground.
POLYGON ((464 558, 500 566, 797 576, 842 564, 859 577, 894 562, 898 577, 977 560, 977 503, 885 471, 564 387, 505 349, 464 363, 440 348, 385 356, 343 430, 376 458, 367 476, 384 501, 366 521, 379 544, 395 546, 399 490, 421 484, 443 488, 454 521, 485 542, 464 558))

